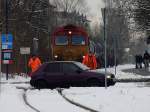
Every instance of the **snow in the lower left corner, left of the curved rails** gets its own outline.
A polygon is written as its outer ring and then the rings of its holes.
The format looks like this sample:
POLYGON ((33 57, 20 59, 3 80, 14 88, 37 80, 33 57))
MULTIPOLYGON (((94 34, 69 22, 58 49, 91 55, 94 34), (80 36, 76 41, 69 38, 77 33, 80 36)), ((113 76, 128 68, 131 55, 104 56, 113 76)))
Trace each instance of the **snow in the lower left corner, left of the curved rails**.
POLYGON ((14 85, 1 86, 0 111, 1 112, 33 112, 25 105, 22 98, 22 90, 17 90, 14 85))

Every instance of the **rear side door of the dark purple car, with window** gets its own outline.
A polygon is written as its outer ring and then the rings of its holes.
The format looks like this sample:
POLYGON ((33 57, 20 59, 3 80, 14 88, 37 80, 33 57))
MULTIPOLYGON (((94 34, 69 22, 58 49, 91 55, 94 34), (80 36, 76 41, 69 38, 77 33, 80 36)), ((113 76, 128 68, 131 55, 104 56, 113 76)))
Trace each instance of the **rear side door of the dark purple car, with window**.
POLYGON ((45 69, 45 78, 51 85, 61 85, 63 83, 64 74, 61 71, 60 63, 49 63, 45 69))

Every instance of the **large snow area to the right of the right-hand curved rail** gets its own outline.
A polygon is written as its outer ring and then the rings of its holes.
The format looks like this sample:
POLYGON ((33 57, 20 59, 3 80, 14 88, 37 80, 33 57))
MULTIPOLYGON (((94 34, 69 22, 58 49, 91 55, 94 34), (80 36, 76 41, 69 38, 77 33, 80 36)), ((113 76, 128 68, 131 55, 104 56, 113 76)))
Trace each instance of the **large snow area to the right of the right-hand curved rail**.
POLYGON ((116 84, 105 88, 70 88, 63 91, 69 99, 100 112, 149 112, 150 88, 135 84, 116 84))

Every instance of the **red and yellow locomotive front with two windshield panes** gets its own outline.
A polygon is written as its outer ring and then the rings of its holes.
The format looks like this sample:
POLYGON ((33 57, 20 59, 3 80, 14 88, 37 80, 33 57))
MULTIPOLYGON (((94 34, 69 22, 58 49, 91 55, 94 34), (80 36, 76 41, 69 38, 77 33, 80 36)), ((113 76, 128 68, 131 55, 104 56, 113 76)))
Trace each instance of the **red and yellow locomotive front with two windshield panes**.
POLYGON ((82 27, 67 25, 52 35, 53 60, 82 61, 88 52, 89 38, 82 27))

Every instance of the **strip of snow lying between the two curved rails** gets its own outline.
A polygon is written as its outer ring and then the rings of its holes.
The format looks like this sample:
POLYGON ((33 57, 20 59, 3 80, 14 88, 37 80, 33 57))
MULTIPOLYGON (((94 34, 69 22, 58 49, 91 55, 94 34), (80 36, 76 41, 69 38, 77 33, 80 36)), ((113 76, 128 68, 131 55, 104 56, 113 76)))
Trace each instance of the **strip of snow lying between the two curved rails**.
POLYGON ((41 112, 87 112, 64 100, 56 90, 34 90, 27 92, 30 104, 41 112))

